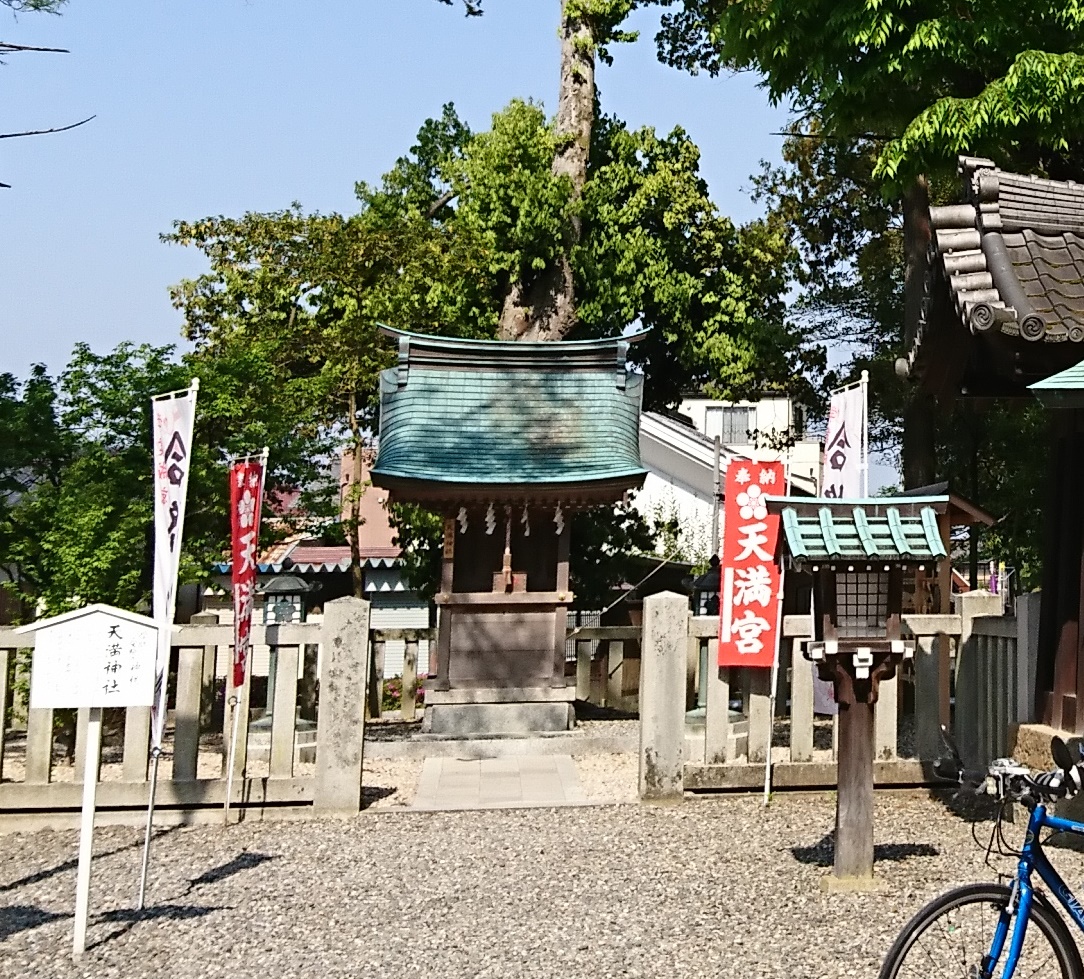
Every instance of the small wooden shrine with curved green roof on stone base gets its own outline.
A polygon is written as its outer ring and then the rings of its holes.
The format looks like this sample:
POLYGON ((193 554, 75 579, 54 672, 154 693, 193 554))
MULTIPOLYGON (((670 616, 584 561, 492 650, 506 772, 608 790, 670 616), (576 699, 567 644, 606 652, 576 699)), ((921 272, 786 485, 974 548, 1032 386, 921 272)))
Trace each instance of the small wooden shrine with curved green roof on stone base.
POLYGON ((566 730, 570 521, 638 487, 643 336, 566 343, 448 339, 383 327, 372 469, 390 502, 443 517, 434 734, 566 730))

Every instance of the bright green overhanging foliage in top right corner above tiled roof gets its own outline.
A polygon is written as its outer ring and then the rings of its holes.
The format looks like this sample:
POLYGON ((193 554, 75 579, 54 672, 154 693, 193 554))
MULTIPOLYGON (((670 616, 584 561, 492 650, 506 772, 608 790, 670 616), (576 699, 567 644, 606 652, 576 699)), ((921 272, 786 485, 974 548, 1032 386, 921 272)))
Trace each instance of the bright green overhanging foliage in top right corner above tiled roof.
POLYGON ((963 0, 671 0, 671 64, 754 68, 775 102, 877 141, 898 186, 958 153, 1057 173, 1084 136, 1084 4, 963 0))

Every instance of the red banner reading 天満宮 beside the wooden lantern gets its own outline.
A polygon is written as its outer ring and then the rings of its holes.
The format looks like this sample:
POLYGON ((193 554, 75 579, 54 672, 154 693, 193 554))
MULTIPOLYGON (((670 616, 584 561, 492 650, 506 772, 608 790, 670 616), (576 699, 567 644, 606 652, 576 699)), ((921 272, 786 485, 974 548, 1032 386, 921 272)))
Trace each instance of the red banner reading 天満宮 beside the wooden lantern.
POLYGON ((779 497, 783 463, 734 460, 726 468, 719 665, 771 667, 778 642, 782 576, 775 561, 779 516, 765 497, 779 497))

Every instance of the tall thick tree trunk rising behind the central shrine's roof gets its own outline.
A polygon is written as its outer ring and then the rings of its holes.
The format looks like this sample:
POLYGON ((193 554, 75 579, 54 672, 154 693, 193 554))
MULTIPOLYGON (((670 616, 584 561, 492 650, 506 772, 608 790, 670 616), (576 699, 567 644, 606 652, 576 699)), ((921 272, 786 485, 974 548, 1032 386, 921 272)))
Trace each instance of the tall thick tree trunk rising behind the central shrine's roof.
MULTIPOLYGON (((591 26, 568 15, 560 0, 560 92, 557 96, 557 152, 553 172, 572 184, 572 207, 588 179, 591 129, 595 121, 595 55, 591 26)), ((569 249, 580 240, 572 216, 567 247, 530 283, 512 283, 504 298, 498 337, 504 340, 559 340, 576 325, 576 292, 569 249)))

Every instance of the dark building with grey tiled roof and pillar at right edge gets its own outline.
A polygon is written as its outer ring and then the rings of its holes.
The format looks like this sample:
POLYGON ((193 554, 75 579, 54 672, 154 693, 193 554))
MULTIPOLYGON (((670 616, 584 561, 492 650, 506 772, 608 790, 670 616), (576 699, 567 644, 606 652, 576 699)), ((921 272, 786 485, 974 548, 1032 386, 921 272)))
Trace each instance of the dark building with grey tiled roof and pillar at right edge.
POLYGON ((896 368, 941 399, 1034 385, 1066 405, 1050 413, 1036 712, 1084 733, 1084 409, 1053 381, 1084 360, 1084 185, 975 157, 959 172, 964 203, 930 208, 921 315, 896 368))

